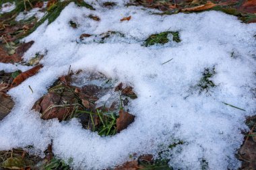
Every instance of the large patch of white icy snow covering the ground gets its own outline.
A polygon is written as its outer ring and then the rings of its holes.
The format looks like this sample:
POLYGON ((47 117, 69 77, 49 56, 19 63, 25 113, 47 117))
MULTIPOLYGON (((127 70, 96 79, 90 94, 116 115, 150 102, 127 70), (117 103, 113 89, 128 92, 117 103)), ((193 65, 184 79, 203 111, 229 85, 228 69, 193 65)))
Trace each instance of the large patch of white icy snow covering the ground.
POLYGON ((24 59, 40 52, 45 55, 44 68, 9 91, 15 107, 0 122, 0 150, 33 145, 42 153, 53 140, 55 155, 73 158, 75 169, 105 169, 131 160, 133 153, 156 157, 182 140, 184 144, 165 155, 175 169, 200 169, 203 159, 210 169, 239 167, 234 154, 243 142, 245 116, 255 114, 256 106, 256 25, 217 11, 160 16, 121 3, 111 9, 95 1, 92 5, 95 11, 71 3, 55 22, 49 26, 45 22, 25 38, 35 42, 24 59), (100 17, 100 22, 90 19, 90 14, 100 17), (129 15, 129 22, 120 21, 129 15), (77 28, 69 26, 70 21, 77 28), (179 31, 181 42, 141 46, 151 34, 167 30, 179 31), (84 33, 97 38, 108 31, 125 36, 110 36, 104 43, 79 40, 84 33), (67 74, 69 65, 131 83, 138 96, 129 107, 135 122, 120 134, 100 137, 84 130, 76 119, 41 120, 32 105, 67 74), (204 69, 213 67, 216 87, 199 93, 204 69))

